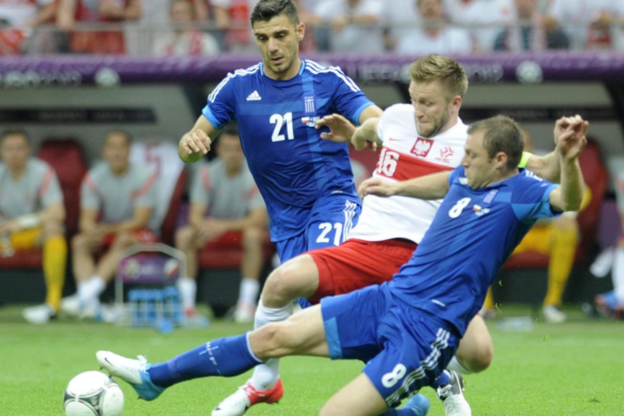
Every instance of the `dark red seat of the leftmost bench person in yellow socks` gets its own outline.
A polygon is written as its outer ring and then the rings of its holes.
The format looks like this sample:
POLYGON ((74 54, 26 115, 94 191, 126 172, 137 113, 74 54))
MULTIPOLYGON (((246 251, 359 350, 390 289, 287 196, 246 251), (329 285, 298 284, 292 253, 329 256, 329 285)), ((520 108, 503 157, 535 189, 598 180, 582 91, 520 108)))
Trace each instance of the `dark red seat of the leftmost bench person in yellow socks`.
MULTIPOLYGON (((76 139, 47 139, 39 149, 38 157, 49 163, 59 178, 66 209, 66 230, 76 232, 80 213, 80 181, 87 167, 82 147, 76 139)), ((41 269, 40 249, 20 250, 11 257, 0 257, 0 269, 41 269)))

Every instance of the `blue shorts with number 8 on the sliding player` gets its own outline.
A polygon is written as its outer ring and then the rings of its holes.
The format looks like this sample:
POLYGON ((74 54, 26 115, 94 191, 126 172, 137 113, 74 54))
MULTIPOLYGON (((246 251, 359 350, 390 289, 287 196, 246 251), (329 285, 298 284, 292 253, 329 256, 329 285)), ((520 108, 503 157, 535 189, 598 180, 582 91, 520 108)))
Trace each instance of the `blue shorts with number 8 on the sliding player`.
POLYGON ((331 359, 366 362, 364 374, 396 407, 441 374, 459 345, 451 325, 399 304, 387 284, 321 299, 331 359))

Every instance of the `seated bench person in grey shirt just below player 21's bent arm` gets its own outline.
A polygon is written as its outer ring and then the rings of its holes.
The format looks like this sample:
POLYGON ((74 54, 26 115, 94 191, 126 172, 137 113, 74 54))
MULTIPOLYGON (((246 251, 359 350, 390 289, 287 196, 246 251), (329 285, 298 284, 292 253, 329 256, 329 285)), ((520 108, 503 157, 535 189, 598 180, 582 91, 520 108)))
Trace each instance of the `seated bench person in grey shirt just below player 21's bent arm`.
POLYGON ((243 259, 233 319, 235 322, 253 322, 268 214, 245 162, 235 127, 226 127, 220 134, 217 155, 212 162, 197 169, 190 192, 189 224, 178 229, 175 235, 175 245, 187 259, 187 275, 178 280, 182 307, 188 318, 197 315, 197 250, 207 243, 237 243, 243 249, 243 259))

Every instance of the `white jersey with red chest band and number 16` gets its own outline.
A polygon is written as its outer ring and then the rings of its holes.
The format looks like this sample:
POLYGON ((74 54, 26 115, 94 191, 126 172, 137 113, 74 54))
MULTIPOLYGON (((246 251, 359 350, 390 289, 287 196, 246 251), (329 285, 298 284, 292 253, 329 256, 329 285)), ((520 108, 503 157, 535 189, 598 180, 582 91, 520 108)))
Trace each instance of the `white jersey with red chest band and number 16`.
MULTIPOLYGON (((388 107, 377 128, 383 147, 373 176, 397 182, 455 169, 464 157, 467 129, 459 120, 442 134, 420 137, 411 104, 388 107)), ((441 201, 368 195, 364 197, 358 225, 351 230, 349 238, 366 241, 402 238, 420 243, 441 201)))

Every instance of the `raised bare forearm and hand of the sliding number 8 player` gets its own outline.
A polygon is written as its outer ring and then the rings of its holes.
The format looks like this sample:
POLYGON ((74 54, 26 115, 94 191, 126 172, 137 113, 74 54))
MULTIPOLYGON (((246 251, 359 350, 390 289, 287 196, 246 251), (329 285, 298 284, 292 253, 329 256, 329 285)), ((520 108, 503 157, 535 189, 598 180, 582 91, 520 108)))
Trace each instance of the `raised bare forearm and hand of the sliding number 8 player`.
POLYGON ((585 184, 578 156, 587 144, 588 123, 571 123, 557 142, 557 151, 561 169, 561 185, 550 192, 550 205, 561 211, 577 211, 583 201, 585 184))

